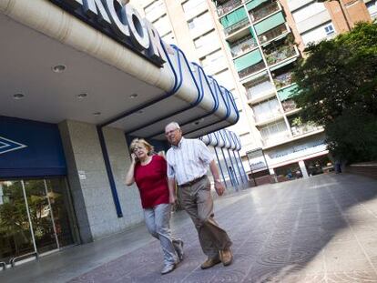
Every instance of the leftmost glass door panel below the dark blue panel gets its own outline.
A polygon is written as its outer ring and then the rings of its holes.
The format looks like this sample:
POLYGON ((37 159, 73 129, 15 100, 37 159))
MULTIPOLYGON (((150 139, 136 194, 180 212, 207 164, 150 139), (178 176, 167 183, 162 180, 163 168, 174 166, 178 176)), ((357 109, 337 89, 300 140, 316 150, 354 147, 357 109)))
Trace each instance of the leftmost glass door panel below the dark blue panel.
POLYGON ((36 252, 23 182, 0 181, 0 261, 36 252))

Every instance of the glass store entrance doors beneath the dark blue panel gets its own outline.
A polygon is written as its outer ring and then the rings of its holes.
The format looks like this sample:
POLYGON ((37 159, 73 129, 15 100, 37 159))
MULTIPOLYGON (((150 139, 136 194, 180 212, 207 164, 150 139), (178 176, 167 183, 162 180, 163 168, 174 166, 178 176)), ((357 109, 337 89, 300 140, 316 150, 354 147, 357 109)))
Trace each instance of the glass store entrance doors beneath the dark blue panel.
POLYGON ((64 177, 0 180, 0 262, 74 244, 64 177))

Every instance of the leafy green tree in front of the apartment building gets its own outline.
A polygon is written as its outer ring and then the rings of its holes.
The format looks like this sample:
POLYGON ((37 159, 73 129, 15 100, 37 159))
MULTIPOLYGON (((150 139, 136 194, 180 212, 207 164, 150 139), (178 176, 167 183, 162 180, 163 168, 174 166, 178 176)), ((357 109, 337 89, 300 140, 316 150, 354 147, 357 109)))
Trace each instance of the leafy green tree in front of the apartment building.
POLYGON ((377 24, 357 24, 305 52, 293 75, 301 93, 292 97, 302 121, 324 126, 335 157, 377 160, 377 24))

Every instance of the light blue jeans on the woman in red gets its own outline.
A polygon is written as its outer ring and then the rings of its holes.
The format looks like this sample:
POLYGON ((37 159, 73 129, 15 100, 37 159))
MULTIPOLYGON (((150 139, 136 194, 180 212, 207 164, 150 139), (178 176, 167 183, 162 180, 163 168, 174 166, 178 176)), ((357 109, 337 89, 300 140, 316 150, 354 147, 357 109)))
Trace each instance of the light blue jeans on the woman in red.
POLYGON ((170 231, 170 204, 160 204, 153 208, 144 209, 144 217, 150 235, 158 238, 164 252, 164 264, 172 265, 178 263, 178 255, 174 248, 177 240, 171 237, 170 231))

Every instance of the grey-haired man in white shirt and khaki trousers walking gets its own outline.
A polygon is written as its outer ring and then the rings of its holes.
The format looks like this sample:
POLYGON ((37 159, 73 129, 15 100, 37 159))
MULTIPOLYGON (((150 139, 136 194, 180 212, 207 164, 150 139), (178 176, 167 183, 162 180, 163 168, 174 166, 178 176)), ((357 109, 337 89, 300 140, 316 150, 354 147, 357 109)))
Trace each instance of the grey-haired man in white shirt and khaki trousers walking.
MULTIPOLYGON (((201 268, 211 268, 221 261, 224 266, 229 266, 233 260, 231 241, 227 232, 213 218, 213 200, 206 175, 209 167, 215 179, 216 192, 221 196, 225 187, 219 179, 215 160, 201 140, 184 138, 178 123, 168 124, 165 135, 171 144, 167 153, 168 187, 174 191, 177 181, 182 207, 198 230, 200 246, 208 256, 201 268)), ((173 201, 175 199, 170 199, 170 202, 173 201)))

